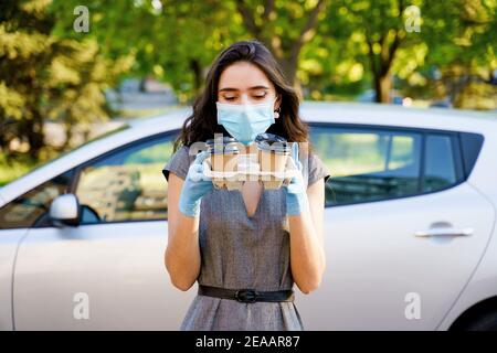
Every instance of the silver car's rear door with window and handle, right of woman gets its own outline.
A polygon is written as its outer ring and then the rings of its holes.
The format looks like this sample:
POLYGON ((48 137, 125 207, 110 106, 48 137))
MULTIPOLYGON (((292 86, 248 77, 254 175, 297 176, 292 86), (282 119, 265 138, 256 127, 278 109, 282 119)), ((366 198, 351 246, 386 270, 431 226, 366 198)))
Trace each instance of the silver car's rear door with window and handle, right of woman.
POLYGON ((327 269, 299 296, 309 330, 434 330, 489 239, 493 210, 469 184, 458 135, 314 125, 326 185, 327 269))

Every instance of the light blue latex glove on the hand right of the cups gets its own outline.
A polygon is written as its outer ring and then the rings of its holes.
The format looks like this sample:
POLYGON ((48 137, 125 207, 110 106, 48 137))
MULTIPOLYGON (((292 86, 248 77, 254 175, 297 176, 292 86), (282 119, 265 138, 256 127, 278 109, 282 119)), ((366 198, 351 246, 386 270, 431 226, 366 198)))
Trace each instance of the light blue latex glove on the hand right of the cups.
POLYGON ((299 173, 286 185, 286 213, 289 216, 299 215, 307 204, 307 193, 302 174, 302 163, 298 160, 298 142, 292 145, 292 158, 299 173))

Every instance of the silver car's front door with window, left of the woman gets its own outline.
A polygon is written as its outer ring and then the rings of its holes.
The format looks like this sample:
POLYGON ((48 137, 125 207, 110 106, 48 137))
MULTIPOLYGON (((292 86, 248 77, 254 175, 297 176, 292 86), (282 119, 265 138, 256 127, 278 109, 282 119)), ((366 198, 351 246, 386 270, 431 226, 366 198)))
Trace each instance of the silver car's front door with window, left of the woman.
POLYGON ((22 242, 14 281, 19 330, 176 330, 193 293, 163 265, 175 133, 110 151, 75 171, 77 227, 39 222, 22 242))

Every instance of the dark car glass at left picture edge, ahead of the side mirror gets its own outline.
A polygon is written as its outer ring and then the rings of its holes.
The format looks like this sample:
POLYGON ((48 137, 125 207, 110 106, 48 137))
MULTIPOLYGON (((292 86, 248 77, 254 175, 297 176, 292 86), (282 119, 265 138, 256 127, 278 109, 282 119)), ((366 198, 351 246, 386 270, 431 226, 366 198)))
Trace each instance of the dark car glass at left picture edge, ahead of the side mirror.
POLYGON ((50 210, 52 200, 67 192, 73 171, 44 182, 0 208, 0 229, 33 226, 50 210))

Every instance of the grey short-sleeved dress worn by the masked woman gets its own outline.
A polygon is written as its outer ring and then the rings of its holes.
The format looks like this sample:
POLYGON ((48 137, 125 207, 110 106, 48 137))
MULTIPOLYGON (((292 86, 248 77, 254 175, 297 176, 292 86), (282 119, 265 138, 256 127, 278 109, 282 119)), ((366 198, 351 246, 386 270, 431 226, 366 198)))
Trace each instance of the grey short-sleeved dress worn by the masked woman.
MULTIPOLYGON (((170 171, 184 179, 193 160, 183 146, 162 173, 166 179, 170 171)), ((315 153, 300 154, 299 160, 308 185, 329 176, 315 153)), ((214 189, 201 201, 199 242, 200 285, 261 291, 293 288, 283 189, 264 190, 252 217, 240 191, 214 189)), ((294 302, 243 303, 197 295, 180 330, 285 331, 304 330, 304 324, 294 302)))

